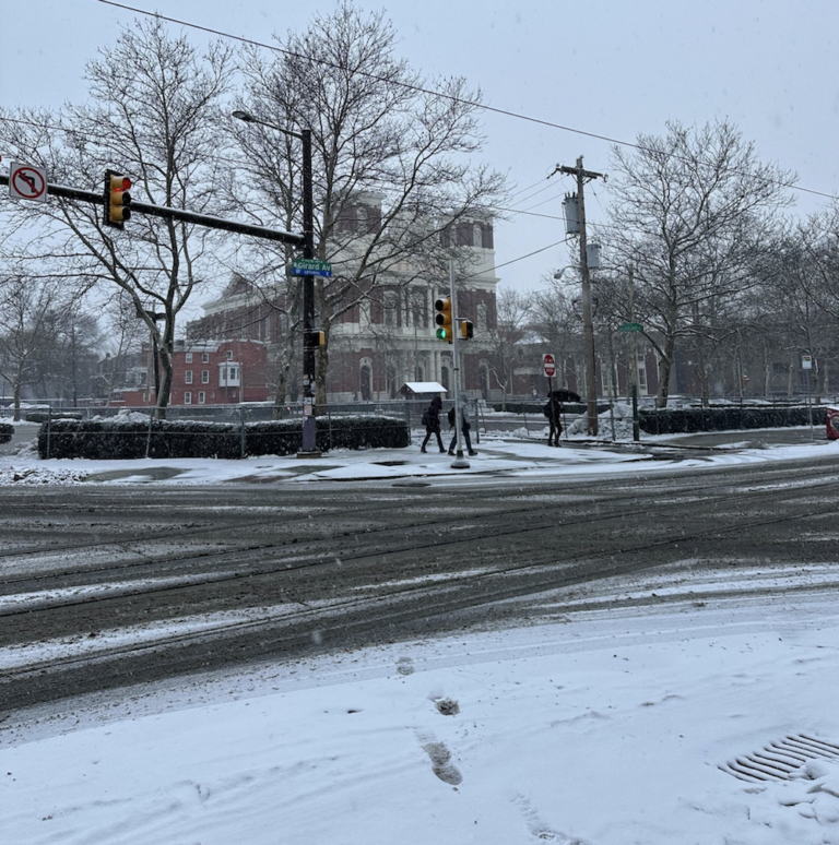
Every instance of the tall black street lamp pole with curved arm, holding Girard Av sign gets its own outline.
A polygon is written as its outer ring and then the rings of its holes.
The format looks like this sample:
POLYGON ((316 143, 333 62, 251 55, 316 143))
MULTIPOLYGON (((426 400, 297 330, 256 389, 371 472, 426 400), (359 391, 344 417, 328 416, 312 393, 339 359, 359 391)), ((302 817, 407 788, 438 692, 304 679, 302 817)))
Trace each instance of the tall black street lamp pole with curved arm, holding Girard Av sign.
MULTIPOLYGON (((303 258, 315 258, 315 211, 311 187, 311 130, 293 132, 264 120, 255 118, 249 111, 237 109, 231 114, 245 123, 259 123, 284 135, 298 139, 303 144, 303 258)), ((315 278, 303 277, 303 449, 302 454, 317 454, 317 427, 315 425, 315 278)))

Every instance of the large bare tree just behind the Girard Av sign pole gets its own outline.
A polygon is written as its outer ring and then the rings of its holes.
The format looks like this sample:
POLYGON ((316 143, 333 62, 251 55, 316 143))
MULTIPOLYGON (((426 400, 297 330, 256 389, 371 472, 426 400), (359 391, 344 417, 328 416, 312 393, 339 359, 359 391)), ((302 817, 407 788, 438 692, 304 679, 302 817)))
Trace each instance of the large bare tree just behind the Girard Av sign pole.
MULTIPOLYGON (((365 15, 342 0, 277 43, 274 61, 245 55, 245 99, 260 120, 312 132, 316 254, 334 267, 332 279, 316 282, 327 337, 317 367, 322 405, 335 321, 381 286, 446 278, 448 258, 473 245, 459 225, 487 219, 504 179, 470 158, 483 143, 480 91, 462 79, 426 83, 395 57, 382 13, 365 15)), ((239 182, 258 187, 241 197, 246 207, 289 228, 296 221, 299 230, 298 142, 259 124, 238 138, 248 162, 239 182)), ((284 252, 272 264, 287 259, 284 252)))

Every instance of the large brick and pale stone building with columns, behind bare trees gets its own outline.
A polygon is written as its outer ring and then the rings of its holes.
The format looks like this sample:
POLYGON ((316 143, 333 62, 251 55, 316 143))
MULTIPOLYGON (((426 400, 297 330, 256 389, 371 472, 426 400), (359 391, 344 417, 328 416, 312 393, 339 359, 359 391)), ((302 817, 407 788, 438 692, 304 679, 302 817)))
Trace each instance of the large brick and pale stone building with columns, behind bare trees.
MULTIPOLYGON (((381 225, 376 197, 344 206, 336 221, 336 236, 364 235, 381 225)), ((489 333, 496 328, 495 274, 492 221, 459 222, 442 235, 462 247, 469 261, 469 282, 458 291, 459 319, 471 320, 474 338, 459 345, 461 388, 471 396, 491 400, 500 395, 492 378, 489 333)), ((333 259, 334 261, 334 259, 333 259)), ((371 283, 366 296, 332 322, 329 338, 327 400, 330 403, 397 398, 407 381, 452 383, 451 346, 438 341, 434 302, 449 294, 448 277, 428 277, 410 262, 388 270, 371 283)), ((248 279, 236 275, 214 301, 203 306, 205 316, 187 328, 193 338, 247 337, 268 345, 269 368, 279 368, 286 337, 287 302, 283 296, 265 301, 248 279)), ((300 392, 299 373, 291 374, 288 397, 300 392)))

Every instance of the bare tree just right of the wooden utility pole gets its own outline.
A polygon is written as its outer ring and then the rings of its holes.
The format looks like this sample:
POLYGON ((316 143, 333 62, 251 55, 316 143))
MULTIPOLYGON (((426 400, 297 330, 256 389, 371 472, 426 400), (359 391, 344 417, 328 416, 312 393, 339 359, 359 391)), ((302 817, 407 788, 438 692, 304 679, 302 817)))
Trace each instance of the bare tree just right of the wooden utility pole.
POLYGON ((613 165, 612 246, 616 263, 635 267, 636 309, 659 358, 657 405, 665 407, 677 344, 704 330, 711 302, 754 283, 754 245, 789 204, 792 176, 760 164, 724 121, 670 122, 665 138, 614 147, 613 165))

